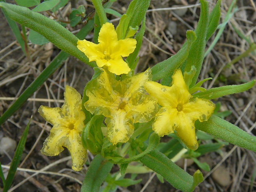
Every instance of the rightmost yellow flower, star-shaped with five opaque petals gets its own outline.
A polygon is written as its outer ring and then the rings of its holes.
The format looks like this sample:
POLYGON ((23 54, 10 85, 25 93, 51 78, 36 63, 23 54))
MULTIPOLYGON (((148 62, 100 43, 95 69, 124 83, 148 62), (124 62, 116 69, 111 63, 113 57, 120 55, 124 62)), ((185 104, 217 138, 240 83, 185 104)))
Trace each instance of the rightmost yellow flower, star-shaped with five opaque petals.
POLYGON ((150 81, 145 83, 144 88, 162 106, 152 123, 152 129, 161 137, 176 130, 183 143, 196 150, 198 142, 194 123, 196 120, 207 121, 215 104, 202 98, 192 99, 180 69, 174 71, 171 87, 150 81))

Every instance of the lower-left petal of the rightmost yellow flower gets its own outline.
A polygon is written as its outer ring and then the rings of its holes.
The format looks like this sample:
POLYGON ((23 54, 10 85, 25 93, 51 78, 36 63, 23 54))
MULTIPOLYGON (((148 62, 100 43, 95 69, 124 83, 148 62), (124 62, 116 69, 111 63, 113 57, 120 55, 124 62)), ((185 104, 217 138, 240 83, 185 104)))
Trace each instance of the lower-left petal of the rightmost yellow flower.
POLYGON ((152 129, 160 136, 174 133, 177 127, 178 111, 166 107, 162 107, 155 116, 152 123, 152 129))

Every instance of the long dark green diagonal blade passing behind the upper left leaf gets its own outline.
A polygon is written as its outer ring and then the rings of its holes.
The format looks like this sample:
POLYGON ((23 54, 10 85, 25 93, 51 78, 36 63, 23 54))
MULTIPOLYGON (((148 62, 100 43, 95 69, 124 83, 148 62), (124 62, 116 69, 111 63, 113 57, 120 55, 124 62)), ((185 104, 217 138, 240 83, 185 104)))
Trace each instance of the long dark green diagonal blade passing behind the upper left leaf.
MULTIPOLYGON (((93 29, 93 20, 90 20, 78 33, 79 39, 84 39, 86 35, 93 29)), ((8 108, 6 112, 0 117, 0 125, 8 119, 14 112, 16 112, 26 100, 48 79, 52 73, 58 69, 64 61, 69 57, 69 54, 60 51, 60 53, 52 60, 50 65, 42 71, 42 73, 26 88, 26 90, 19 96, 19 98, 8 108)))

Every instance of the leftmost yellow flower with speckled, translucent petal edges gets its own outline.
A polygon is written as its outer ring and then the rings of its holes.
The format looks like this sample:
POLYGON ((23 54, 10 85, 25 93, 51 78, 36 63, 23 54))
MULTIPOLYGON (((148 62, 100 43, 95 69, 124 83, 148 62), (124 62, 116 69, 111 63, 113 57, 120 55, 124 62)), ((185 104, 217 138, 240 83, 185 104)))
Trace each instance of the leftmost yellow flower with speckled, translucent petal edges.
POLYGON ((72 169, 79 171, 87 160, 87 150, 80 137, 85 119, 84 112, 81 111, 81 95, 74 88, 66 86, 64 98, 62 108, 40 106, 38 109, 40 115, 53 125, 41 152, 55 156, 66 147, 72 157, 72 169))

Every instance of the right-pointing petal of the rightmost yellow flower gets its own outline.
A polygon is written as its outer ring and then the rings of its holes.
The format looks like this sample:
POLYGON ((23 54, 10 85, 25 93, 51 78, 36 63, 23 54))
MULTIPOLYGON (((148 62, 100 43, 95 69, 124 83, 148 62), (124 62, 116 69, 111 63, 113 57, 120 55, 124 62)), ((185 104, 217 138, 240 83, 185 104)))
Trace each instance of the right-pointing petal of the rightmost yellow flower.
POLYGON ((186 116, 190 117, 192 121, 199 120, 207 121, 214 112, 215 104, 207 99, 195 98, 191 102, 183 105, 182 111, 186 116))

